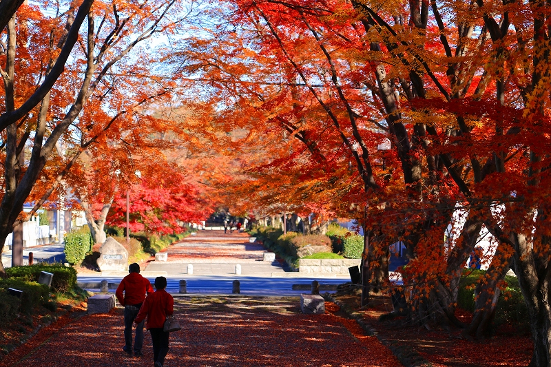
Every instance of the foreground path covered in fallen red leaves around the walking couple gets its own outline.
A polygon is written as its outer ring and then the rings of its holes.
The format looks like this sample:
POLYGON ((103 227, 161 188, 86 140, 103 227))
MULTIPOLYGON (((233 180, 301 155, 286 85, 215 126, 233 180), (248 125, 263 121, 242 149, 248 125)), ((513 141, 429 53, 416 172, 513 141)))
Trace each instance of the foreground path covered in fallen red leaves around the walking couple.
MULTIPOLYGON (((402 366, 355 322, 331 313, 303 315, 297 297, 182 297, 176 315, 183 329, 171 333, 166 367, 183 366, 402 366)), ((54 325, 50 328, 55 328, 54 325)), ((123 310, 65 320, 44 340, 37 335, 1 366, 152 366, 146 333, 144 356, 123 353, 123 310)))

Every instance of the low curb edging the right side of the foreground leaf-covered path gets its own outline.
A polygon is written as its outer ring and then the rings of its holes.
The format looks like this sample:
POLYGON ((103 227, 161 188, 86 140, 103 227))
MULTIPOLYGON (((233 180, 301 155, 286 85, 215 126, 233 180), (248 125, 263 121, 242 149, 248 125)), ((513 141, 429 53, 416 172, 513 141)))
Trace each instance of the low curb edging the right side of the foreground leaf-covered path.
POLYGON ((346 313, 346 315, 348 315, 351 319, 355 319, 357 324, 360 325, 362 329, 364 329, 366 335, 377 337, 381 344, 388 347, 393 355, 395 355, 395 357, 405 367, 434 367, 434 365, 430 363, 430 361, 419 355, 419 353, 417 353, 417 350, 415 350, 415 348, 413 348, 412 346, 408 346, 404 343, 395 342, 393 340, 388 340, 382 337, 379 333, 377 333, 377 330, 375 330, 373 326, 365 322, 362 313, 355 312, 349 305, 343 304, 342 302, 335 300, 335 298, 333 298, 333 295, 331 295, 330 293, 324 293, 322 297, 324 297, 326 301, 337 304, 337 306, 339 306, 340 309, 344 311, 344 313, 346 313))

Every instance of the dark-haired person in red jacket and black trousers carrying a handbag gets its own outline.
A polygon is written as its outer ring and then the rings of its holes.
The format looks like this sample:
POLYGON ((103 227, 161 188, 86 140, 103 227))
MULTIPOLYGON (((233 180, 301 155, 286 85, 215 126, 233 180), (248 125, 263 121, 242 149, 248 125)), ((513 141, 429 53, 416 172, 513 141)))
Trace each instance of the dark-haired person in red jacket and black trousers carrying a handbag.
POLYGON ((165 326, 167 316, 174 313, 174 298, 165 291, 166 287, 167 278, 155 278, 155 293, 147 295, 138 316, 134 320, 136 324, 139 324, 147 316, 145 328, 151 333, 155 367, 163 367, 163 364, 165 364, 165 357, 169 349, 169 333, 163 331, 163 326, 165 326))

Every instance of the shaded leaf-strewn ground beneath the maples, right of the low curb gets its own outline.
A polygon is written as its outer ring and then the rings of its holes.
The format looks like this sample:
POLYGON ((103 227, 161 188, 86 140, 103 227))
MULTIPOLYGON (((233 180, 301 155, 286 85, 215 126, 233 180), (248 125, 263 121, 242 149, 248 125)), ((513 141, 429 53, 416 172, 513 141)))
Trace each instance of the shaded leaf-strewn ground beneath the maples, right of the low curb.
MULTIPOLYGON (((367 308, 360 308, 360 297, 340 293, 334 299, 347 313, 356 313, 366 328, 377 332, 377 337, 390 346, 406 366, 432 364, 435 367, 497 367, 528 366, 532 357, 532 339, 519 334, 514 325, 502 325, 490 339, 470 341, 461 337, 461 330, 453 331, 419 328, 408 324, 404 317, 380 321, 382 315, 393 311, 390 297, 371 295, 367 308), (409 362, 409 363, 408 363, 409 362), (415 362, 415 363, 412 363, 415 362)), ((340 311, 342 312, 342 311, 340 311)), ((469 323, 470 313, 457 310, 456 316, 469 323)))

